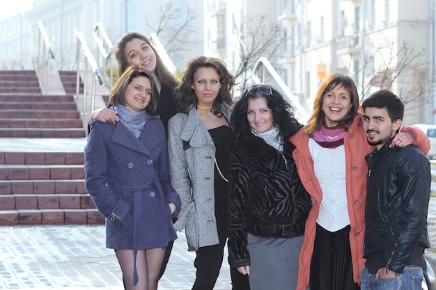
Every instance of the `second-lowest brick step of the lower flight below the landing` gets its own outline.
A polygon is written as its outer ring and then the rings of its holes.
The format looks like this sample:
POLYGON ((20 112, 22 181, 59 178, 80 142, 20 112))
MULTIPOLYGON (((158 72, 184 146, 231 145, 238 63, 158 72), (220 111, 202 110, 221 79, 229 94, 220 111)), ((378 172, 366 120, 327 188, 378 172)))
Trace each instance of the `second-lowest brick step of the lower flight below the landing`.
POLYGON ((0 195, 0 211, 5 209, 95 209, 95 204, 82 194, 0 195))

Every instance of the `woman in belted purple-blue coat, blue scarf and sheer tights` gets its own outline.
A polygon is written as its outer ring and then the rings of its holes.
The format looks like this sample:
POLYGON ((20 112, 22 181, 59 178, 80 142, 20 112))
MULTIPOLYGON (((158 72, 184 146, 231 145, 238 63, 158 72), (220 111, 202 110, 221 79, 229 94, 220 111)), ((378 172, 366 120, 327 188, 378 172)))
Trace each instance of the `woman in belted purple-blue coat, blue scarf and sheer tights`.
POLYGON ((86 191, 106 218, 106 246, 115 249, 127 289, 157 289, 166 245, 177 239, 171 217, 180 198, 152 92, 150 75, 129 67, 109 96, 120 122, 91 122, 85 147, 86 191))

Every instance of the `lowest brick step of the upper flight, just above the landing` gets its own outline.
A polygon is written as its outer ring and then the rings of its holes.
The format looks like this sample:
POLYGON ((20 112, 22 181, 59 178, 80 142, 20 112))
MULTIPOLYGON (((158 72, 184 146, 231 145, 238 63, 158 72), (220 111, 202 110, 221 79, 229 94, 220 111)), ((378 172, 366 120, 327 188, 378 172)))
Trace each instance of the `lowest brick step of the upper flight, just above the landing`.
POLYGON ((84 138, 81 128, 0 128, 0 138, 84 138))

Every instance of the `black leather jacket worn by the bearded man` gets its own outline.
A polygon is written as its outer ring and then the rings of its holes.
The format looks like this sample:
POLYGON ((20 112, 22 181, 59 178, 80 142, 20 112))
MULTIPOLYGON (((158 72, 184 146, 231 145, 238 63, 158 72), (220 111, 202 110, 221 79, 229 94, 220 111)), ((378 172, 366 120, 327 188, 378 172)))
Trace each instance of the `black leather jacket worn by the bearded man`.
POLYGON ((402 273, 416 245, 429 248, 427 211, 430 163, 415 146, 368 154, 364 257, 381 255, 382 266, 402 273))

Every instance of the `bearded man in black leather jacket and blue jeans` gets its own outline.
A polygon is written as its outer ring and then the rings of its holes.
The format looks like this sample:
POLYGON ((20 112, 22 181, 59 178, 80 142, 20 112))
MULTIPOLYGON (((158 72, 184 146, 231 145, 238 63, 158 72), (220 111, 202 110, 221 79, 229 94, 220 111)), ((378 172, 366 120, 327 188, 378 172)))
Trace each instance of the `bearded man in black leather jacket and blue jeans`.
POLYGON ((404 113, 404 104, 396 95, 379 90, 362 106, 364 131, 376 149, 366 156, 367 261, 361 273, 361 290, 421 289, 426 267, 423 253, 430 247, 430 163, 413 145, 389 147, 404 113))

